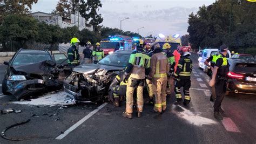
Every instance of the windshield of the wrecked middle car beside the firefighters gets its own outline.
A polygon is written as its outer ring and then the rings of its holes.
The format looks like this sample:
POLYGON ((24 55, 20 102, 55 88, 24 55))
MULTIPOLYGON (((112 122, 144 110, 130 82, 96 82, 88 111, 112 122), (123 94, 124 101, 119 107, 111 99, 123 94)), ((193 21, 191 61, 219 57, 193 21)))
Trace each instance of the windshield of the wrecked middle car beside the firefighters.
POLYGON ((120 53, 112 53, 99 61, 101 65, 110 65, 117 67, 125 67, 128 64, 128 60, 130 55, 120 54, 120 53))

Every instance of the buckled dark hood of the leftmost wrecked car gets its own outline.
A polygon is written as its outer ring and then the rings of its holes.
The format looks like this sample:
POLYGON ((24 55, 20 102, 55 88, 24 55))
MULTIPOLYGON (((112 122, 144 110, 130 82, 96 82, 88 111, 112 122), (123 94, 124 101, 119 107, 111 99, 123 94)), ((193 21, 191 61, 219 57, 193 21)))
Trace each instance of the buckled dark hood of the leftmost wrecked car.
POLYGON ((15 71, 33 73, 33 74, 46 74, 51 71, 51 68, 56 65, 55 61, 45 60, 38 63, 28 64, 28 65, 14 65, 12 66, 15 71))

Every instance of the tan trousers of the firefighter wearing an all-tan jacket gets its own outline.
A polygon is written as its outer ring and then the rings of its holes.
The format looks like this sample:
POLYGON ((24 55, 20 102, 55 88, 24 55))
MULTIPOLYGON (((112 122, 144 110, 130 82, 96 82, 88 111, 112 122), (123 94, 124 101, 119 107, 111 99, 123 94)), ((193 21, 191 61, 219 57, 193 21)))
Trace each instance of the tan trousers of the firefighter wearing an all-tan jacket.
POLYGON ((153 94, 156 98, 154 111, 156 112, 162 112, 166 109, 166 85, 167 77, 153 78, 152 80, 153 94))

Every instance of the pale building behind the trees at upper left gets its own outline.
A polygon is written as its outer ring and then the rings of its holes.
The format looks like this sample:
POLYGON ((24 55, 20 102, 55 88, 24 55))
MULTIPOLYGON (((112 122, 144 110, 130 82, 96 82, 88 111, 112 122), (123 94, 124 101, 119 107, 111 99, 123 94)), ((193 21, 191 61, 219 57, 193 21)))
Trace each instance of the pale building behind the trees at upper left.
POLYGON ((45 22, 46 24, 59 25, 60 28, 67 28, 72 26, 78 26, 79 30, 87 29, 93 31, 93 26, 88 24, 85 18, 80 15, 71 14, 70 18, 53 15, 45 12, 33 12, 30 15, 36 18, 39 22, 45 22))

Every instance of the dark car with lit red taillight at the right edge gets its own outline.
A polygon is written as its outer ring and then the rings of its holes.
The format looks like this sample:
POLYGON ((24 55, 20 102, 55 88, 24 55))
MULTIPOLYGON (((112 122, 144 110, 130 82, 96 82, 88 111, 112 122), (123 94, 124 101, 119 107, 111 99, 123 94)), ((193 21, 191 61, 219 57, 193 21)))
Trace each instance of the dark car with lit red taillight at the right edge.
POLYGON ((227 93, 256 94, 256 60, 228 59, 227 93))

